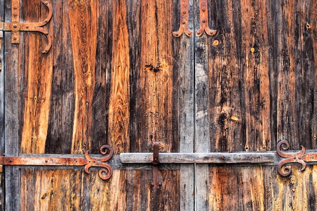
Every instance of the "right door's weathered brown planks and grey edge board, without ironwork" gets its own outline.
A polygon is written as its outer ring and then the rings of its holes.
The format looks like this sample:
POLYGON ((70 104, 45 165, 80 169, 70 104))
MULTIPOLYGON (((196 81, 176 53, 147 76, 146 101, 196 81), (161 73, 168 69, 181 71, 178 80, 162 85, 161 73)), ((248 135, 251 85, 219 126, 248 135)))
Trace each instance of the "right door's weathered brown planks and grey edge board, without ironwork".
MULTIPOLYGON (((315 149, 316 6, 209 2, 217 34, 195 37, 196 152, 315 149)), ((315 165, 291 168, 196 164, 196 207, 315 210, 315 165)))

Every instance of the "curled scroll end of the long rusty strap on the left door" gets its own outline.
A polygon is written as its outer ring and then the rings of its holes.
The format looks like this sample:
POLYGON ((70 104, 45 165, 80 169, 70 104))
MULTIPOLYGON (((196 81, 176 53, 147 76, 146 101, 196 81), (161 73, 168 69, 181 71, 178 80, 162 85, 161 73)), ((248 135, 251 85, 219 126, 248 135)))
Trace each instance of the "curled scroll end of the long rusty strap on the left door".
POLYGON ((113 154, 112 148, 109 145, 101 146, 100 153, 103 155, 107 154, 107 156, 102 158, 92 158, 91 156, 89 156, 88 151, 89 150, 85 152, 85 158, 89 161, 84 167, 85 172, 89 174, 89 168, 92 166, 103 167, 101 170, 99 170, 99 177, 103 180, 109 179, 112 175, 112 168, 110 165, 105 163, 105 161, 109 160, 112 157, 112 154, 113 154), (107 149, 109 151, 108 154, 107 154, 107 149), (105 176, 103 175, 103 173, 105 173, 105 176))

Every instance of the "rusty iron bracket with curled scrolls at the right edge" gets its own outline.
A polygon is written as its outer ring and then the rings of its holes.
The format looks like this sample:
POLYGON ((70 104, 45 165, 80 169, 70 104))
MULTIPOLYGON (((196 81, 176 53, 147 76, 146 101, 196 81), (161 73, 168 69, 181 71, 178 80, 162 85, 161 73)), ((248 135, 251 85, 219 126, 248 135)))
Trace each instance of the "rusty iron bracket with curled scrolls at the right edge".
POLYGON ((307 153, 305 154, 305 147, 301 145, 302 150, 297 153, 285 153, 282 152, 281 149, 287 150, 289 149, 290 145, 287 141, 281 141, 278 143, 278 146, 276 146, 276 151, 281 157, 285 157, 286 159, 282 160, 279 163, 278 171, 280 175, 282 176, 289 176, 291 174, 291 167, 283 165, 287 163, 299 163, 301 164, 301 171, 303 171, 306 167, 306 162, 316 162, 317 161, 317 153, 307 153), (282 168, 283 167, 283 168, 282 168))

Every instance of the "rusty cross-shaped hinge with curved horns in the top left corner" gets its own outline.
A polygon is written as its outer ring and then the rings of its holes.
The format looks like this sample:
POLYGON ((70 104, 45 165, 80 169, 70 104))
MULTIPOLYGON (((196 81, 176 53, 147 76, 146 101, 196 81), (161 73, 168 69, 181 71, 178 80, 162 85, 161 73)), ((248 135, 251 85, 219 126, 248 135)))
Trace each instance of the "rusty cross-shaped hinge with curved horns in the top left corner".
MULTIPOLYGON (((2 31, 11 31, 11 43, 12 44, 19 44, 19 31, 38 31, 42 32, 46 35, 48 39, 48 45, 47 47, 42 51, 42 53, 47 53, 51 49, 52 46, 52 37, 49 34, 47 30, 42 28, 41 26, 46 25, 52 18, 52 6, 49 2, 43 1, 42 2, 48 9, 49 9, 49 15, 47 18, 38 23, 20 23, 20 0, 12 0, 11 3, 11 23, 5 23, 0 22, 0 33, 2 34, 2 31)), ((1 35, 0 34, 0 35, 1 35)))

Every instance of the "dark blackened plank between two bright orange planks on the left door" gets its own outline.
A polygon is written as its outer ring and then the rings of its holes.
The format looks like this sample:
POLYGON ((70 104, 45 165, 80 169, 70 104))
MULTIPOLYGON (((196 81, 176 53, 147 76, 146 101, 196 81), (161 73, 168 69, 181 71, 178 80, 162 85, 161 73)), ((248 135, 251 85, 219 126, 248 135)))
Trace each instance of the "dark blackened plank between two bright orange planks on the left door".
MULTIPOLYGON (((130 5, 130 4, 129 4, 130 5)), ((97 11, 97 52, 95 70, 95 91, 93 98, 92 145, 91 152, 99 153, 99 148, 108 143, 108 110, 111 89, 112 47, 113 47, 113 7, 112 1, 98 3, 97 11), (112 33, 111 33, 112 32, 112 33)), ((121 35, 116 35, 121 36, 121 35)), ((127 47, 128 48, 128 47, 127 47)), ((115 51, 114 51, 115 52, 115 51)))

